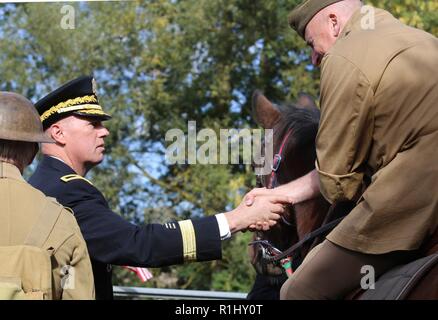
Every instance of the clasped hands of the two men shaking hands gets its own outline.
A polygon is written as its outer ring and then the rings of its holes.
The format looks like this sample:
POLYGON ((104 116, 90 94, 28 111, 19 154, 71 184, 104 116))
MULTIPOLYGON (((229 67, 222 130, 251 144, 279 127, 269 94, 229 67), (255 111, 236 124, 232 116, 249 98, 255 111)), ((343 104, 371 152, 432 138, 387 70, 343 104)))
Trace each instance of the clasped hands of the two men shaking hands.
POLYGON ((245 195, 237 208, 224 213, 231 233, 247 229, 267 231, 277 224, 292 199, 272 191, 265 188, 253 189, 245 195))

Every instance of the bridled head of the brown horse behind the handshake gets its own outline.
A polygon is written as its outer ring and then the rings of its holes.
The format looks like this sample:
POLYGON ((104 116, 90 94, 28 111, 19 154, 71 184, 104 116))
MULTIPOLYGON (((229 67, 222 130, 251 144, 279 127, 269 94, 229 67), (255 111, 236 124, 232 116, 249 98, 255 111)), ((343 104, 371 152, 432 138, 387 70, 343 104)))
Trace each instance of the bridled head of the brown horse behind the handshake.
MULTIPOLYGON (((319 124, 319 109, 313 99, 302 94, 295 104, 277 106, 256 91, 252 108, 255 121, 264 129, 273 130, 274 153, 277 158, 281 156, 275 174, 258 176, 258 187, 276 187, 312 171, 315 168, 315 140, 319 124), (280 150, 281 155, 278 154, 280 150)), ((256 240, 268 241, 275 248, 284 251, 321 226, 329 207, 322 196, 291 205, 287 208, 284 219, 274 228, 267 232, 256 232, 256 240)), ((303 246, 299 252, 300 257, 296 258, 299 260, 304 257, 311 245, 303 246)), ((256 271, 274 277, 282 276, 283 270, 280 266, 264 263, 263 250, 261 245, 250 247, 251 261, 256 271)))

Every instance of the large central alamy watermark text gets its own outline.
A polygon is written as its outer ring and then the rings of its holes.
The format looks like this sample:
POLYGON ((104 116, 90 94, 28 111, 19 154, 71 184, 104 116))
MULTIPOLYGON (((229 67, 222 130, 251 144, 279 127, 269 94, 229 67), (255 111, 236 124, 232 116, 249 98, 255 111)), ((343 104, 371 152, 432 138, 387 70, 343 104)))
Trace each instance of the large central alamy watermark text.
POLYGON ((170 165, 253 164, 256 174, 266 175, 272 170, 274 156, 272 131, 220 129, 218 137, 210 128, 197 132, 196 121, 189 121, 187 135, 181 129, 166 132, 165 140, 171 142, 166 160, 170 165))

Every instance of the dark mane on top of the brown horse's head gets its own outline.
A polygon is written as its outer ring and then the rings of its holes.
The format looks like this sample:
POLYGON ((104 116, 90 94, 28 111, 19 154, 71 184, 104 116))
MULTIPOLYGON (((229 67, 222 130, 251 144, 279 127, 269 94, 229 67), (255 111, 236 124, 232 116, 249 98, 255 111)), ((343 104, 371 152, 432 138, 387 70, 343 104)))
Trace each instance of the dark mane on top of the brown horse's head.
POLYGON ((315 143, 318 133, 320 112, 317 108, 301 108, 295 105, 277 106, 282 116, 276 130, 280 137, 292 130, 293 141, 296 148, 315 143))

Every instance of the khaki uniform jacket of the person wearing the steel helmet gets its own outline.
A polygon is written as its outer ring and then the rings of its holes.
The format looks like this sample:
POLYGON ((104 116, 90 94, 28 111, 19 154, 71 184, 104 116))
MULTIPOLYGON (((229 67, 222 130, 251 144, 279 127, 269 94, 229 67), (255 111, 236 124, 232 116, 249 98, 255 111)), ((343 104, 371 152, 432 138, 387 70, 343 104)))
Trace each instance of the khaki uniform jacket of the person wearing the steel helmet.
MULTIPOLYGON (((44 214, 47 201, 52 200, 25 182, 18 168, 0 162, 0 246, 22 245, 44 214)), ((67 210, 61 212, 44 243, 45 249, 51 247, 55 260, 52 261, 53 299, 94 299, 87 247, 74 216, 67 210), (65 266, 74 268, 74 274, 70 272, 74 282, 69 284, 74 288, 63 290, 61 269, 65 266)))

